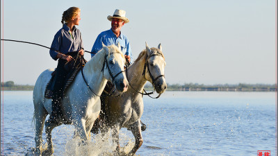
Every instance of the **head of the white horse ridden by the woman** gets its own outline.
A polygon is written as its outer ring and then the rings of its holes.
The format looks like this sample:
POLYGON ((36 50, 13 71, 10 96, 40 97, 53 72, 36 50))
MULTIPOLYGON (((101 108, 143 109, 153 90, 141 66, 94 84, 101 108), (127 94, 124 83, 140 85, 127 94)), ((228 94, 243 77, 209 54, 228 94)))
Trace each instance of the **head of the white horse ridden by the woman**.
POLYGON ((102 44, 106 56, 104 60, 103 72, 104 78, 111 81, 119 92, 126 92, 129 86, 129 82, 126 79, 124 73, 124 55, 120 51, 120 44, 115 46, 105 46, 102 44))

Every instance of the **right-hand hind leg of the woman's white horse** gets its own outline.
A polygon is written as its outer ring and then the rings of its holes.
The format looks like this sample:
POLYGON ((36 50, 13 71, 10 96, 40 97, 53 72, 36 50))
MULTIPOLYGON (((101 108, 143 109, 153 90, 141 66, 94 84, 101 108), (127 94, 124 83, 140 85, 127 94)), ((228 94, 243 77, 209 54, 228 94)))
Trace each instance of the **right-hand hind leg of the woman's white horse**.
POLYGON ((45 122, 45 133, 47 135, 47 150, 44 150, 44 155, 52 155, 54 153, 51 132, 54 128, 56 128, 59 125, 62 125, 62 123, 45 122))

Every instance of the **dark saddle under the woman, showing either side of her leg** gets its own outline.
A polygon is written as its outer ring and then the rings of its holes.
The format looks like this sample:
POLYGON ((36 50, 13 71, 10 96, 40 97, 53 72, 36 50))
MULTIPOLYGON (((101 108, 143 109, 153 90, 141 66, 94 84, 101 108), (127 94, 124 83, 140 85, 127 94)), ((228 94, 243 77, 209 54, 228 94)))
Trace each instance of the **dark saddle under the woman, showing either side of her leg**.
MULTIPOLYGON (((64 66, 65 70, 68 71, 65 85, 63 87, 63 96, 65 96, 65 92, 67 91, 67 88, 70 87, 72 84, 72 81, 74 81, 74 78, 76 77, 76 74, 80 71, 80 69, 83 67, 83 65, 87 61, 81 57, 80 55, 76 57, 76 59, 72 59, 70 62, 67 62, 64 66)), ((54 90, 54 79, 55 79, 56 70, 51 73, 51 79, 49 80, 49 83, 47 83, 47 87, 44 91, 44 97, 45 98, 52 98, 53 96, 53 90, 54 90)), ((63 99, 63 97, 62 97, 63 99)))

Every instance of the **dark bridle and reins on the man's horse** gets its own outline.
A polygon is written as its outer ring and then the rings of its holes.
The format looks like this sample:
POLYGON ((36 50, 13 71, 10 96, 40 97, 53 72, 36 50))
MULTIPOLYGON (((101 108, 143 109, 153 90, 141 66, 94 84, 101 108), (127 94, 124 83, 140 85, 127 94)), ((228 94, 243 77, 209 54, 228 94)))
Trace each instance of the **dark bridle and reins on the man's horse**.
MULTIPOLYGON (((146 54, 144 69, 143 69, 143 72, 142 72, 142 76, 144 76, 145 80, 147 80, 147 78, 145 77, 145 73, 146 73, 146 69, 147 69, 147 72, 149 72, 149 76, 152 78, 152 85, 154 86, 154 90, 156 89, 156 86, 154 85, 154 83, 156 82, 156 80, 158 80, 158 78, 161 78, 161 77, 164 77, 164 78, 165 78, 165 75, 160 75, 160 76, 157 76, 156 78, 154 78, 154 76, 152 75, 151 71, 149 70, 149 62, 148 62, 148 60, 149 60, 149 58, 151 58, 152 56, 156 56, 156 55, 163 57, 162 53, 160 53, 160 52, 158 52, 158 53, 152 52, 152 54, 149 55, 149 56, 146 54)), ((128 74, 127 74, 127 69, 128 69, 128 68, 126 68, 126 79, 129 80, 129 78, 128 78, 128 76, 127 76, 127 75, 128 75, 128 74)), ((136 92, 138 92, 139 94, 142 94, 142 96, 143 96, 143 95, 147 95, 147 96, 149 96, 150 98, 154 98, 154 97, 150 96, 150 94, 154 94, 154 91, 153 91, 153 92, 147 93, 147 92, 145 91, 145 89, 143 89, 143 91, 144 91, 145 93, 142 93, 142 92, 139 92, 138 90, 134 89, 130 83, 129 83, 129 86, 130 86, 133 90, 135 90, 136 92)), ((159 94, 158 96, 156 96, 156 98, 159 98, 160 96, 161 96, 161 94, 159 94)))

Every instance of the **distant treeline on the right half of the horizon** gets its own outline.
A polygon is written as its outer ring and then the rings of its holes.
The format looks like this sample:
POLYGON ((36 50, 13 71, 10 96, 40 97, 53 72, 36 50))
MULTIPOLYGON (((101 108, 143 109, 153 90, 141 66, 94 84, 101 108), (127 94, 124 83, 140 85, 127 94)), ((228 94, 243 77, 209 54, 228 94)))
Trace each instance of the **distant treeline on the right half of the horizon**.
MULTIPOLYGON (((145 85, 145 89, 152 89, 152 85, 145 85)), ((237 85, 216 84, 216 85, 199 85, 198 83, 167 84, 168 91, 228 91, 228 92, 277 92, 277 85, 267 84, 245 84, 237 85)))

